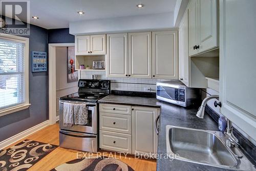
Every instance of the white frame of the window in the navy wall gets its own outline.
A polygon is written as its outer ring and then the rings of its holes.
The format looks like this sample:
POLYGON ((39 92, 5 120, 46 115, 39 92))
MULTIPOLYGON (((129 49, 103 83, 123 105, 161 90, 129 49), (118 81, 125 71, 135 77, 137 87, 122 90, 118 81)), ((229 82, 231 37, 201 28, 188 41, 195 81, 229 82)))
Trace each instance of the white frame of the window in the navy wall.
POLYGON ((7 108, 0 110, 0 116, 4 116, 4 115, 10 114, 10 113, 14 113, 14 112, 17 112, 20 110, 27 109, 31 105, 29 103, 29 38, 10 35, 10 34, 4 34, 4 33, 0 34, 0 38, 5 39, 5 40, 10 40, 10 41, 21 42, 21 43, 25 44, 25 49, 24 49, 25 102, 22 104, 7 107, 7 108))

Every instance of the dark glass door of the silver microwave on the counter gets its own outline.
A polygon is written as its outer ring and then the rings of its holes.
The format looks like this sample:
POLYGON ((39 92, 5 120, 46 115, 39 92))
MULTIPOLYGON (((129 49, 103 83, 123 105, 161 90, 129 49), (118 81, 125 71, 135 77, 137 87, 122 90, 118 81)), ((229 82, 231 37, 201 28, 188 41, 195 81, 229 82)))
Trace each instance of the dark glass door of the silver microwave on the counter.
POLYGON ((179 104, 179 88, 157 85, 157 99, 179 104))

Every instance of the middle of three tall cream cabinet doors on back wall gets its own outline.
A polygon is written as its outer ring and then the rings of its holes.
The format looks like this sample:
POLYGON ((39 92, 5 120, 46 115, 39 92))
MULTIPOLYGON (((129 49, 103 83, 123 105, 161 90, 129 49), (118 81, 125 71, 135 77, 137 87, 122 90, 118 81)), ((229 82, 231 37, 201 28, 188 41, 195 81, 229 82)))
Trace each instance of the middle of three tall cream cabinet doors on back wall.
POLYGON ((129 77, 152 78, 152 33, 129 33, 129 77))

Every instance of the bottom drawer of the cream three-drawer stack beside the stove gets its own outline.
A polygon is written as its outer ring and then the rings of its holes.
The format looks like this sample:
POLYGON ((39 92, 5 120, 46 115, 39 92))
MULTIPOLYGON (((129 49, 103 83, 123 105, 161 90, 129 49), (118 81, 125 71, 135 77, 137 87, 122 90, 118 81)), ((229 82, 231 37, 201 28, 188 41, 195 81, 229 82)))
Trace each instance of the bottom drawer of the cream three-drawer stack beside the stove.
POLYGON ((99 131, 99 148, 117 152, 132 153, 131 135, 99 131))

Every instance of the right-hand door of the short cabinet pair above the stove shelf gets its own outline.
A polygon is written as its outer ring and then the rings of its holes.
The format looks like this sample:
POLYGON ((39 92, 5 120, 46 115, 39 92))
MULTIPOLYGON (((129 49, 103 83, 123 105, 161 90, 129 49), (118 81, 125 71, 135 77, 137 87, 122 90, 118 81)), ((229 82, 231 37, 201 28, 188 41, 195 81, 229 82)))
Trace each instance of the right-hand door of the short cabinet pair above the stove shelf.
POLYGON ((91 35, 91 54, 105 55, 106 54, 106 35, 91 35))

